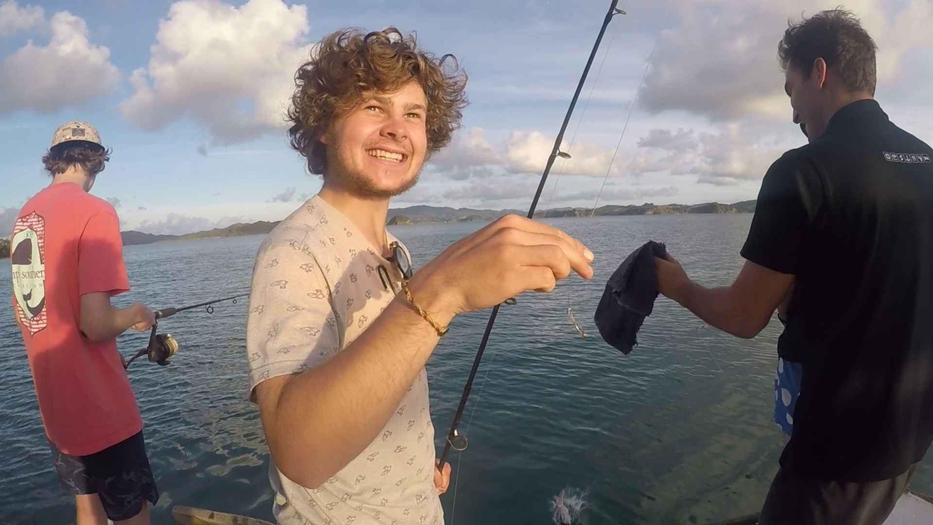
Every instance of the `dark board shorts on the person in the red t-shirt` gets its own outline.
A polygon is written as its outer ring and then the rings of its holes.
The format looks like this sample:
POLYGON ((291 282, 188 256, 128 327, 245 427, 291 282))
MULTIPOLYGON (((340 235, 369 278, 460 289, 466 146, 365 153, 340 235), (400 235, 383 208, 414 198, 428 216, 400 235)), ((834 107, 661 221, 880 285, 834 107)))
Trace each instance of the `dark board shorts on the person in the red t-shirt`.
POLYGON ((65 454, 51 441, 49 447, 64 490, 73 495, 97 494, 113 521, 136 516, 146 501, 159 501, 142 431, 88 456, 65 454))

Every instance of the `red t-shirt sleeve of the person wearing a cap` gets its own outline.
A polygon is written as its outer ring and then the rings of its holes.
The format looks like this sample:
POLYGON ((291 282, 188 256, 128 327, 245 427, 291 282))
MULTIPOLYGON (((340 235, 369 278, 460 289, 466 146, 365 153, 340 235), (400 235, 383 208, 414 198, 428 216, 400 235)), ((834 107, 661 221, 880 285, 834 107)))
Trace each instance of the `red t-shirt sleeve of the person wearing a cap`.
POLYGON ((84 225, 77 248, 77 282, 80 295, 97 291, 117 295, 130 290, 116 214, 95 213, 84 225))

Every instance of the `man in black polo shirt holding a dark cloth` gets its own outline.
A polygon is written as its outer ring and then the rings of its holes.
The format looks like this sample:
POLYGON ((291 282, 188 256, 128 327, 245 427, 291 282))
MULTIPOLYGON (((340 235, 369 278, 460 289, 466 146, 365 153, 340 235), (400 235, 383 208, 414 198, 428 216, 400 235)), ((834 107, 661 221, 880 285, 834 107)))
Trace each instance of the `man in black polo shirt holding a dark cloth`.
POLYGON ((809 144, 765 174, 745 266, 706 289, 655 260, 661 293, 745 338, 793 283, 778 354, 801 391, 761 525, 882 523, 933 440, 933 149, 873 100, 875 50, 842 9, 790 25, 778 56, 809 144))

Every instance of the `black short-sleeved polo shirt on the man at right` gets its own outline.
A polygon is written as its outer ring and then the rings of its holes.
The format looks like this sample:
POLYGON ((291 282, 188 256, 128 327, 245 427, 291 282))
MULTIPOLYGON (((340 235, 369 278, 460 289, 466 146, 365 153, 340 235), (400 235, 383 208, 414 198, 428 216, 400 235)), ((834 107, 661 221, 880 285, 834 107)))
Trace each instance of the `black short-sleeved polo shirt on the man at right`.
POLYGON ((796 474, 886 479, 933 440, 931 160, 862 100, 764 177, 742 256, 795 276, 778 353, 802 364, 796 474))

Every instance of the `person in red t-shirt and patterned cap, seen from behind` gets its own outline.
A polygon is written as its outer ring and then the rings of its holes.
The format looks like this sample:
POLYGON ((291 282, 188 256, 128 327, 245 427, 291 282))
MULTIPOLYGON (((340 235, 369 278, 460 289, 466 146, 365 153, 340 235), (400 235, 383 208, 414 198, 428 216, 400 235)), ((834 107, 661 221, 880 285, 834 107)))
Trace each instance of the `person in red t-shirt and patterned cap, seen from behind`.
POLYGON ((13 311, 39 412, 77 525, 148 524, 156 488, 143 419, 117 351, 117 336, 155 323, 146 305, 110 305, 130 290, 113 206, 89 192, 110 160, 97 131, 70 121, 43 157, 51 184, 13 226, 13 311))

